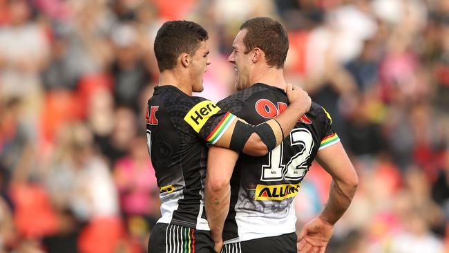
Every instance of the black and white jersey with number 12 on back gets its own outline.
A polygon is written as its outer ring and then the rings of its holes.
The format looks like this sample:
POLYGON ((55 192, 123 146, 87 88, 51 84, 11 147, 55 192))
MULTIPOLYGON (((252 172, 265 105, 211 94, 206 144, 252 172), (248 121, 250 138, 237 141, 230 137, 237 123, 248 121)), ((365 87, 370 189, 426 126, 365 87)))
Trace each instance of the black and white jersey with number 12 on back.
MULTIPOLYGON (((280 88, 254 84, 218 106, 249 124, 275 118, 289 102, 280 88)), ((298 122, 289 136, 266 156, 240 153, 231 177, 231 203, 225 221, 225 243, 295 232, 294 197, 319 149, 338 142, 332 119, 320 105, 298 122)))

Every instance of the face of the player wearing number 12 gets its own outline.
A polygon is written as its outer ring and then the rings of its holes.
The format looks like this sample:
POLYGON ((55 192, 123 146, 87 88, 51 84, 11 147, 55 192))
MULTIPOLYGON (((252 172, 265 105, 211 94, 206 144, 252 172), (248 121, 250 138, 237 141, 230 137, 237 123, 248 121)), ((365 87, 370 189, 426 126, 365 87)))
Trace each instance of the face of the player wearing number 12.
POLYGON ((249 74, 251 72, 251 51, 245 54, 245 44, 243 38, 247 34, 247 29, 240 30, 232 44, 232 53, 229 55, 228 62, 234 65, 236 71, 236 90, 241 91, 249 88, 249 74))

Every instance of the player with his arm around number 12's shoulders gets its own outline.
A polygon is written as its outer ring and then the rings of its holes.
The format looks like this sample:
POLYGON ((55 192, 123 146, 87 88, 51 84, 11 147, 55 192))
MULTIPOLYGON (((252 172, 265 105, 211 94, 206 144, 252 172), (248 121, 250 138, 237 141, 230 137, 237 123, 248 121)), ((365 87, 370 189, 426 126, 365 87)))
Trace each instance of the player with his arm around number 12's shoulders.
POLYGON ((254 127, 192 92, 202 91, 207 70, 207 31, 191 21, 168 21, 154 50, 159 85, 148 101, 146 134, 160 187, 162 217, 152 229, 149 252, 213 252, 204 214, 207 143, 263 155, 282 142, 311 102, 287 86, 292 109, 254 127))

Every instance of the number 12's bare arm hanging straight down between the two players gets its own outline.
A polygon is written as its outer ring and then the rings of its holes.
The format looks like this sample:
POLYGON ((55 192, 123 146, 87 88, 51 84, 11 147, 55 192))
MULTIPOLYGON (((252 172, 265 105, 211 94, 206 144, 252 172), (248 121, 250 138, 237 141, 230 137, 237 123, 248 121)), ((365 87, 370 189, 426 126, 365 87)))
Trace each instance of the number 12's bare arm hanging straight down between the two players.
POLYGON ((237 159, 236 151, 220 147, 209 149, 204 205, 216 252, 220 252, 222 247, 223 226, 231 199, 229 180, 237 159))

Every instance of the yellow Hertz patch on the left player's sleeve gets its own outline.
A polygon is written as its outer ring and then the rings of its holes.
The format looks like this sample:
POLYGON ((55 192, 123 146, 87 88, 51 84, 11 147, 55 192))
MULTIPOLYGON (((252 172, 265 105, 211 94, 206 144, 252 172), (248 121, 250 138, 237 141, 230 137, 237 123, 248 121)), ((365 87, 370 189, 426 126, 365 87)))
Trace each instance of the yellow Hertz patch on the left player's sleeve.
POLYGON ((209 120, 212 115, 218 113, 218 111, 220 111, 220 107, 209 100, 204 100, 195 104, 184 117, 184 120, 199 133, 207 120, 209 120))

